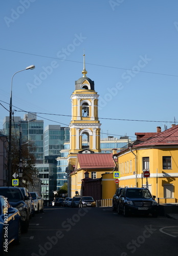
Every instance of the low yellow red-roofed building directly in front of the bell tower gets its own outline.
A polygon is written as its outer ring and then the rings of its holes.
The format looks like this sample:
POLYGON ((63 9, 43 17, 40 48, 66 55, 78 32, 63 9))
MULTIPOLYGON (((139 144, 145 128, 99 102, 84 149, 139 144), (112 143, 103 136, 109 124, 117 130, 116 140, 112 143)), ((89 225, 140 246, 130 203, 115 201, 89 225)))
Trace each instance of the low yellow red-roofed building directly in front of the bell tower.
POLYGON ((95 200, 112 198, 116 191, 115 167, 112 154, 95 154, 89 150, 79 152, 75 170, 70 174, 71 196, 75 196, 77 191, 78 195, 93 196, 95 200), (110 186, 112 183, 115 184, 114 189, 110 186))

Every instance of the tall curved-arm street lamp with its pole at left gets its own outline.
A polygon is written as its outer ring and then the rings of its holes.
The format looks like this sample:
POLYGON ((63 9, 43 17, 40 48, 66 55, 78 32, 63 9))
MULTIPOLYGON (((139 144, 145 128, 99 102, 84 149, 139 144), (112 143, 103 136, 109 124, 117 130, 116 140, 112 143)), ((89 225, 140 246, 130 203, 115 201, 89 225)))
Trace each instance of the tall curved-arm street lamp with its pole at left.
MULTIPOLYGON (((19 70, 17 71, 15 74, 24 71, 24 70, 28 70, 28 69, 35 69, 34 65, 31 65, 29 67, 27 67, 26 69, 23 70, 19 70)), ((11 94, 10 94, 10 105, 9 105, 9 156, 8 156, 8 186, 11 186, 11 137, 12 137, 12 80, 14 75, 12 76, 11 79, 11 94)))

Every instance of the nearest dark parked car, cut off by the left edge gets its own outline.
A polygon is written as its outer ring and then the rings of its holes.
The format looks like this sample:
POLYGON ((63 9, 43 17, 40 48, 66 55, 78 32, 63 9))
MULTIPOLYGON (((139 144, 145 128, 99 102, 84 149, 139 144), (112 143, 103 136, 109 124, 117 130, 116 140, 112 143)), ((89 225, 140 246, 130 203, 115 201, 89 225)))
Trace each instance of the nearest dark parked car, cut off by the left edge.
POLYGON ((0 255, 6 254, 5 250, 11 242, 19 244, 20 238, 19 210, 12 207, 7 198, 0 196, 0 255))

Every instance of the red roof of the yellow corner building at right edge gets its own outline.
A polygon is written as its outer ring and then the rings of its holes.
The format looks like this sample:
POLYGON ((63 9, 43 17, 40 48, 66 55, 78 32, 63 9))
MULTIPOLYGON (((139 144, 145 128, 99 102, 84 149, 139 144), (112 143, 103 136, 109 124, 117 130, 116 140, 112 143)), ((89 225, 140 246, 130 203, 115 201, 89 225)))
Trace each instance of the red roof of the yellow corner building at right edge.
POLYGON ((149 145, 178 145, 178 125, 174 125, 164 132, 156 133, 150 139, 133 147, 149 145))

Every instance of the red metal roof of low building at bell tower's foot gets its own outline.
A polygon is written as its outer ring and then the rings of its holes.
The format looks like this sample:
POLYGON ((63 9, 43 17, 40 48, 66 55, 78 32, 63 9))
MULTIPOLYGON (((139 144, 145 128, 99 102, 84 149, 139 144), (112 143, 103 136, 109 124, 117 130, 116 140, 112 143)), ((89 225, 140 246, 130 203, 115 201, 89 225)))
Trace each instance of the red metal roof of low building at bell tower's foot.
POLYGON ((77 158, 81 169, 115 167, 112 154, 78 154, 77 158))

